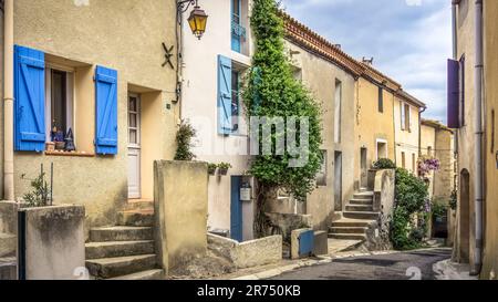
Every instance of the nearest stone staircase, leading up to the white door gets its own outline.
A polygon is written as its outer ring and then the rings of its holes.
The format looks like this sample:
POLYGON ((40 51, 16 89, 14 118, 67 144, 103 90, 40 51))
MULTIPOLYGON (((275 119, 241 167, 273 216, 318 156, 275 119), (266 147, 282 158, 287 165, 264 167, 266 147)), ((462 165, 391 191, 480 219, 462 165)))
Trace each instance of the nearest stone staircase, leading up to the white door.
POLYGON ((154 202, 131 200, 117 226, 90 230, 86 268, 95 279, 159 280, 154 244, 154 202))

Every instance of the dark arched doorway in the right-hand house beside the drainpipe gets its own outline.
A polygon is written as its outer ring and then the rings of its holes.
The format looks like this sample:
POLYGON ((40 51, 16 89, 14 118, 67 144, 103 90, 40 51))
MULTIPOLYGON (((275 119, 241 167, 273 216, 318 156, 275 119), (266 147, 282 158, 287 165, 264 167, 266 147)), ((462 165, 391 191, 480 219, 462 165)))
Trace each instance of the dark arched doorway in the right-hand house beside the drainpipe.
POLYGON ((466 169, 460 173, 459 202, 459 260, 463 263, 468 263, 470 256, 470 174, 466 169))

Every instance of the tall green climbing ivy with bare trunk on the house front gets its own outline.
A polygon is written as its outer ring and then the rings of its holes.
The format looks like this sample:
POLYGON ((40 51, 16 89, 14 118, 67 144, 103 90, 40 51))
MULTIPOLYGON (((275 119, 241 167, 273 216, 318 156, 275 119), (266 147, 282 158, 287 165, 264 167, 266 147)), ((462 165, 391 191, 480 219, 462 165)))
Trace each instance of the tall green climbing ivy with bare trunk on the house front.
MULTIPOLYGON (((284 27, 278 13, 278 6, 274 0, 253 1, 250 24, 256 38, 256 51, 252 67, 246 76, 246 87, 242 92, 243 104, 248 117, 308 117, 308 164, 303 167, 290 168, 289 160, 292 157, 287 150, 283 155, 274 153, 260 155, 252 160, 250 173, 260 184, 258 197, 260 214, 256 221, 259 226, 255 229, 260 236, 264 235, 262 225, 268 221, 262 211, 269 199, 269 192, 284 189, 295 199, 304 200, 314 189, 315 175, 323 159, 320 150, 322 143, 320 106, 302 83, 293 77, 284 51, 284 27)), ((272 142, 282 136, 287 137, 287 133, 273 132, 272 142)))

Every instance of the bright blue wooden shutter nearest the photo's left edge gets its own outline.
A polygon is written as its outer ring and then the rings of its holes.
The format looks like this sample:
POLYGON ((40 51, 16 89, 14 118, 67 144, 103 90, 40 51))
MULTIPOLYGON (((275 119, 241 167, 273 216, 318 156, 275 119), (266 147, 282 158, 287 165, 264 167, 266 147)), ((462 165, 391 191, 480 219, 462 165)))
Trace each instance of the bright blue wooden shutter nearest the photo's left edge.
POLYGON ((14 149, 45 149, 45 54, 14 46, 14 149))

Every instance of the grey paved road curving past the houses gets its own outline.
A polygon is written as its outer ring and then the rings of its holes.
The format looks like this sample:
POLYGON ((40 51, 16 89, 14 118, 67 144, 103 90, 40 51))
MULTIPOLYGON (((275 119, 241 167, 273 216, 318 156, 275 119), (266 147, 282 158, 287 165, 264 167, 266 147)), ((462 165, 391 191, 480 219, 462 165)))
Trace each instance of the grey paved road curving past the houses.
POLYGON ((450 258, 449 249, 335 259, 301 268, 272 280, 434 280, 433 264, 450 258))

